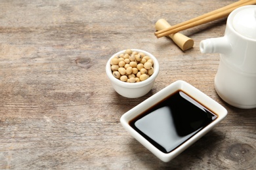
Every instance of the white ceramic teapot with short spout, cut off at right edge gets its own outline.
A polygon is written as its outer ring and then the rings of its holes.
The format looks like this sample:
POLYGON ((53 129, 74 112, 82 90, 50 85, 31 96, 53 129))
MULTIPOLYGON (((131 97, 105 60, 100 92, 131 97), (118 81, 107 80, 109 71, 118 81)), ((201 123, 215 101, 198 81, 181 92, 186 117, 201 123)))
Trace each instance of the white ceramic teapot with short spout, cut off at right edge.
POLYGON ((234 107, 256 108, 256 5, 233 10, 224 37, 200 42, 200 51, 220 53, 215 89, 234 107))

